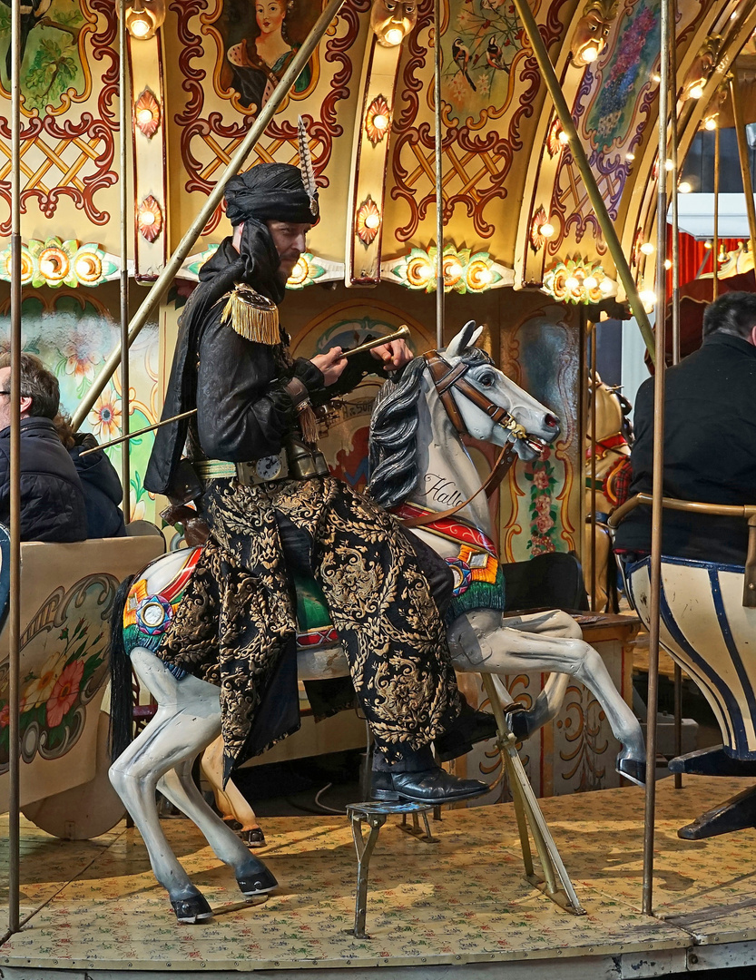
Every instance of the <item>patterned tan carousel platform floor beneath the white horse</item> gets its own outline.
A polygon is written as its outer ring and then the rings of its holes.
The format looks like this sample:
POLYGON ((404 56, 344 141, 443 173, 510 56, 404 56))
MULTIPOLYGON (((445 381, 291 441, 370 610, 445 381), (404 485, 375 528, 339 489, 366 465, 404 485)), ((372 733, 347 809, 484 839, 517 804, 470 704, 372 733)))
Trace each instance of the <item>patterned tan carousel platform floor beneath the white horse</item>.
MULTIPOLYGON (((703 842, 677 828, 743 788, 686 777, 658 791, 655 915, 640 911, 642 792, 634 787, 542 801, 587 914, 554 906, 522 875, 512 807, 444 812, 424 844, 383 827, 371 862, 370 939, 350 935, 356 860, 344 817, 265 820, 262 854, 280 888, 247 906, 188 821, 164 826, 216 911, 177 926, 141 838, 120 825, 65 842, 25 824, 25 925, 0 944, 6 980, 254 975, 283 980, 654 977, 756 962, 756 830, 703 842)), ((7 817, 3 820, 7 821, 7 817)), ((0 847, 7 851, 6 827, 0 847)), ((3 860, 7 859, 7 854, 3 860)), ((3 875, 3 884, 7 875, 3 875)), ((7 895, 7 893, 6 893, 7 895)), ((7 927, 7 900, 4 912, 7 927)), ((732 973, 733 980, 738 971, 732 973)))

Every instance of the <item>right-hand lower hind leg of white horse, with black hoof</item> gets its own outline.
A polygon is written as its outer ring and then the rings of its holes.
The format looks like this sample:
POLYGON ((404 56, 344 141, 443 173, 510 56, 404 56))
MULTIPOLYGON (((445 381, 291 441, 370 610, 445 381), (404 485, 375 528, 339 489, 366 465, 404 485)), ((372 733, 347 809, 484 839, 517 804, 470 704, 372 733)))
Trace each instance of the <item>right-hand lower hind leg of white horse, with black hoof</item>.
POLYGON ((196 823, 216 856, 233 868, 236 882, 245 896, 252 898, 273 891, 277 886, 276 878, 203 800, 191 777, 193 761, 183 760, 166 772, 158 782, 158 789, 196 823))

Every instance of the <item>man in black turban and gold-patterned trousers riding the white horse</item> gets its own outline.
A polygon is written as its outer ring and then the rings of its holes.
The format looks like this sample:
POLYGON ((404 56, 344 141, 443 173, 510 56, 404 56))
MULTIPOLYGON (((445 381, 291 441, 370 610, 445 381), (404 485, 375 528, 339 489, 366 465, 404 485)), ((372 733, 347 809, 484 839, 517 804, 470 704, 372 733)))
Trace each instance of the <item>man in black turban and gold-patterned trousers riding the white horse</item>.
POLYGON ((292 360, 277 304, 318 195, 295 167, 263 164, 230 180, 226 198, 234 233, 184 309, 163 417, 197 414, 159 429, 144 480, 175 505, 195 500, 209 527, 157 656, 220 686, 227 778, 299 727, 292 577, 314 576, 373 732, 373 795, 478 796, 484 783, 445 772, 430 751, 453 758, 495 734, 457 690, 449 566, 330 476, 316 447, 314 407, 412 355, 395 340, 349 362, 338 347, 292 360))

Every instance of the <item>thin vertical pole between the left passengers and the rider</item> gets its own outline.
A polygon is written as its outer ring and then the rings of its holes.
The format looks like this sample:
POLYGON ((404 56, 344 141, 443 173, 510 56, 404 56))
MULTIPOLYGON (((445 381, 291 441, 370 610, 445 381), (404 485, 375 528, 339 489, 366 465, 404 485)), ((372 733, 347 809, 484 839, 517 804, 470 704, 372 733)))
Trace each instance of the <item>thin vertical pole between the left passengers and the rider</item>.
MULTIPOLYGON (((121 431, 128 435, 129 383, 128 376, 128 170, 126 131, 130 98, 126 97, 126 0, 119 0, 119 124, 121 127, 121 431)), ((121 448, 121 484, 124 488, 124 520, 131 514, 131 470, 128 439, 121 448)))

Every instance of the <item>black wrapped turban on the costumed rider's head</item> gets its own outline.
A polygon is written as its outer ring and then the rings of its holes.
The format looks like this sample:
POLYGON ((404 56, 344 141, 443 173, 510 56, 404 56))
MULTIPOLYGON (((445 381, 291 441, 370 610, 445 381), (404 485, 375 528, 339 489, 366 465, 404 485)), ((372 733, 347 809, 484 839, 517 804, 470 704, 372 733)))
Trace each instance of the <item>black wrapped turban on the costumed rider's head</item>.
POLYGON ((258 164, 226 185, 226 217, 234 225, 251 218, 315 224, 318 215, 317 192, 313 214, 302 174, 290 164, 258 164))

